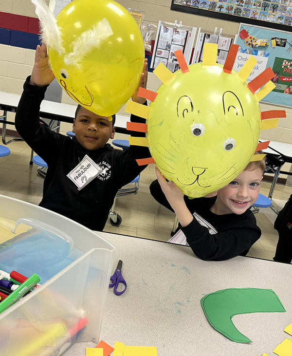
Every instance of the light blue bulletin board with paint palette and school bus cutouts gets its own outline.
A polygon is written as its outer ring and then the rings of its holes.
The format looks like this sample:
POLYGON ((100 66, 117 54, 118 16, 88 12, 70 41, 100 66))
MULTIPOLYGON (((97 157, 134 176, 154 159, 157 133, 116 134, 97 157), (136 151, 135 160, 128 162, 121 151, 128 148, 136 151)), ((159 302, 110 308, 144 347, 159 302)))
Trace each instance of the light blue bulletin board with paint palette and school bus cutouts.
POLYGON ((262 57, 275 73, 276 87, 262 101, 292 107, 292 33, 240 23, 236 43, 242 54, 262 57))

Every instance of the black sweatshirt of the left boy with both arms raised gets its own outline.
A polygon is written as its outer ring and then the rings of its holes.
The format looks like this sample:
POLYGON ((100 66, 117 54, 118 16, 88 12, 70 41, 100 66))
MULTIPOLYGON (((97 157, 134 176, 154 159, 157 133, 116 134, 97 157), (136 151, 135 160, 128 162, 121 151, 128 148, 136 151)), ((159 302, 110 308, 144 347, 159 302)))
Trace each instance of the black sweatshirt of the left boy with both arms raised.
MULTIPOLYGON (((23 86, 15 126, 24 141, 47 163, 48 169, 40 206, 89 227, 103 230, 115 195, 121 187, 131 182, 146 168, 138 166, 136 159, 149 157, 145 147, 133 146, 126 151, 114 150, 110 144, 97 150, 86 150, 75 137, 51 131, 39 122, 39 109, 47 87, 29 84, 30 76, 23 86), (88 155, 104 168, 80 191, 66 176, 88 155)), ((145 123, 145 119, 131 115, 131 121, 145 123)), ((133 135, 143 135, 134 132, 133 135)), ((145 134, 144 134, 145 135, 145 134)))

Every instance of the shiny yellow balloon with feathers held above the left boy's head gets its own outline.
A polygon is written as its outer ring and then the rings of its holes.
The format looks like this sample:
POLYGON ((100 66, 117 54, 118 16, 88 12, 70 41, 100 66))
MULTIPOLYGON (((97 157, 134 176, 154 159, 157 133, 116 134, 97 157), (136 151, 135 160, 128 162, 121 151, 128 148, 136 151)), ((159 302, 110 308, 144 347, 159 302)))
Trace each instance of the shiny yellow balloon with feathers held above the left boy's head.
POLYGON ((92 112, 118 112, 143 71, 144 41, 135 20, 112 0, 73 0, 56 21, 61 50, 47 45, 61 87, 92 112))

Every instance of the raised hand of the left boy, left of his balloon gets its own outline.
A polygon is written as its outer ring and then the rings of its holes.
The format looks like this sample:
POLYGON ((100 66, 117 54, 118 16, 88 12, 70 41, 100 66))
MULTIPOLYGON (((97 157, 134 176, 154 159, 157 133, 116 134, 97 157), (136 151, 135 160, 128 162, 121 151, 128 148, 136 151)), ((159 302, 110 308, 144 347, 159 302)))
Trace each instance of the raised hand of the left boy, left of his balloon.
POLYGON ((44 87, 52 83, 55 75, 49 66, 49 56, 47 54, 47 46, 37 45, 35 65, 32 71, 30 84, 44 87))

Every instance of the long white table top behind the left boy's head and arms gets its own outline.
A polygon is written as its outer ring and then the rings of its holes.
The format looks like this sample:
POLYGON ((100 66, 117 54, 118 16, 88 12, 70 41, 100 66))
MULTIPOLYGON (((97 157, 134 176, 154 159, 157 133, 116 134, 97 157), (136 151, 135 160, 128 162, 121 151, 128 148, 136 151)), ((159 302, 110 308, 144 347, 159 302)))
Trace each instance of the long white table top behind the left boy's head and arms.
MULTIPOLYGON (((0 92, 0 105, 8 105, 13 108, 17 108, 18 102, 20 100, 18 94, 9 94, 0 92)), ((54 101, 43 100, 40 105, 40 112, 51 113, 60 117, 62 121, 62 116, 66 118, 73 119, 75 116, 76 105, 56 103, 54 101)), ((116 114, 115 126, 119 128, 126 129, 127 121, 129 121, 129 116, 116 114)))

